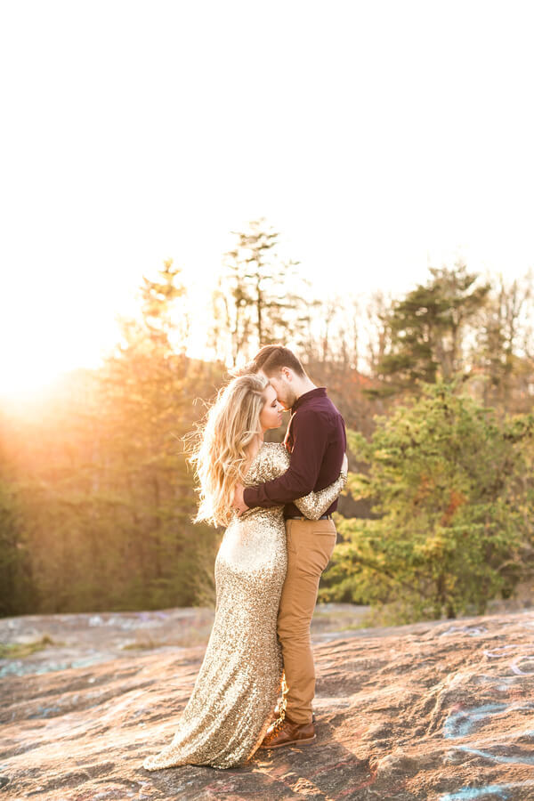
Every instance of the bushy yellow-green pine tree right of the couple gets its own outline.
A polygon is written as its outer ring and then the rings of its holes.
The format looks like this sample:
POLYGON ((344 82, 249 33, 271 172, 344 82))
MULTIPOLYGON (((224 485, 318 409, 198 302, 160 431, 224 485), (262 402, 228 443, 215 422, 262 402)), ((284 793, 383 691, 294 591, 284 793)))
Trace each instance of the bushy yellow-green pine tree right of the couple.
POLYGON ((375 519, 339 522, 323 599, 349 593, 402 623, 483 614, 531 578, 532 415, 499 421, 440 381, 378 418, 370 441, 349 441, 368 473, 351 473, 348 487, 372 499, 375 519))

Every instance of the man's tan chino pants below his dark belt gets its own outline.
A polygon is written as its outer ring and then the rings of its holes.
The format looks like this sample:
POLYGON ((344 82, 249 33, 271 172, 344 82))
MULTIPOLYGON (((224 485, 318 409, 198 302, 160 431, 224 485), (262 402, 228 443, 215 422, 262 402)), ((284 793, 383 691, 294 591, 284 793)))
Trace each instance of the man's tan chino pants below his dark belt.
POLYGON ((315 695, 310 625, 319 579, 336 545, 332 520, 287 520, 287 575, 282 588, 278 635, 287 684, 286 715, 293 723, 312 722, 315 695))

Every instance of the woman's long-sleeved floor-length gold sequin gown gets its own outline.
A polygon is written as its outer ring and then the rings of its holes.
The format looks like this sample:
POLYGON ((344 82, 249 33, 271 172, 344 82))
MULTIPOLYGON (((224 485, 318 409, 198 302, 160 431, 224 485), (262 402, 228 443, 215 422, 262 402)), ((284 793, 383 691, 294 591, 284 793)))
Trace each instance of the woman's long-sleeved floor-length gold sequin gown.
MULTIPOLYGON (((264 442, 245 484, 271 481, 289 466, 283 445, 264 442)), ((344 487, 346 476, 295 501, 318 519, 344 487)), ((172 742, 147 756, 149 771, 175 765, 229 768, 247 761, 271 724, 282 680, 276 633, 286 577, 283 506, 255 507, 224 532, 215 560, 215 619, 206 655, 172 742)))

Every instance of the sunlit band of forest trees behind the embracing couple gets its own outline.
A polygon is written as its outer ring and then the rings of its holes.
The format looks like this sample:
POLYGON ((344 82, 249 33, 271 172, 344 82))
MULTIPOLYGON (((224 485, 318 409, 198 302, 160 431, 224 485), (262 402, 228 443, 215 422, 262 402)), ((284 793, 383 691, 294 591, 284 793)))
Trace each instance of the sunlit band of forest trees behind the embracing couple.
POLYGON ((211 358, 188 355, 188 287, 169 259, 100 369, 0 411, 0 614, 213 603, 222 531, 191 522, 185 442, 229 368, 277 341, 349 429, 321 600, 371 604, 377 622, 439 619, 531 580, 530 276, 457 263, 398 298, 314 297, 278 243, 254 221, 223 255, 211 358))

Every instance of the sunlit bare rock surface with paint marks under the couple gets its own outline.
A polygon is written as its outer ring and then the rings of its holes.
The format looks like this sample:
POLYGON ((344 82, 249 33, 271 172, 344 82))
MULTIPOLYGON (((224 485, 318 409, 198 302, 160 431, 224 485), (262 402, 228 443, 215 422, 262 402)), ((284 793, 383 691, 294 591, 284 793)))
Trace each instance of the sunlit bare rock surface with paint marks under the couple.
POLYGON ((210 611, 0 620, 2 643, 52 640, 0 659, 0 797, 534 799, 532 611, 366 630, 340 614, 344 632, 314 623, 313 745, 154 773, 142 761, 172 738, 210 611))

